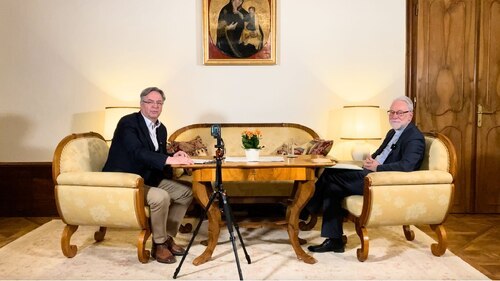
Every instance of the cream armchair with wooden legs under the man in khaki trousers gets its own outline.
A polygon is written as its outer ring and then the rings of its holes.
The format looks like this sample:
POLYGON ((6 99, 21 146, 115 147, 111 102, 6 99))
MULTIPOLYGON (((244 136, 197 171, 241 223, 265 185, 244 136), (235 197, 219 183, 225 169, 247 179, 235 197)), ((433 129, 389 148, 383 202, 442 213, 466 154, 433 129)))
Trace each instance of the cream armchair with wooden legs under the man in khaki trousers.
POLYGON ((55 198, 66 226, 61 237, 63 254, 72 258, 71 245, 80 225, 99 226, 94 239, 102 241, 106 227, 139 230, 137 256, 146 263, 150 252, 145 244, 151 235, 149 210, 144 206, 144 180, 136 174, 101 172, 108 145, 97 133, 72 134, 57 146, 52 163, 55 198))

